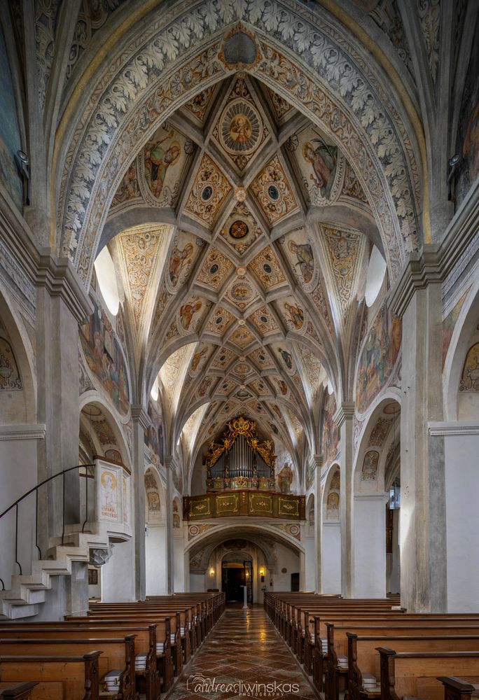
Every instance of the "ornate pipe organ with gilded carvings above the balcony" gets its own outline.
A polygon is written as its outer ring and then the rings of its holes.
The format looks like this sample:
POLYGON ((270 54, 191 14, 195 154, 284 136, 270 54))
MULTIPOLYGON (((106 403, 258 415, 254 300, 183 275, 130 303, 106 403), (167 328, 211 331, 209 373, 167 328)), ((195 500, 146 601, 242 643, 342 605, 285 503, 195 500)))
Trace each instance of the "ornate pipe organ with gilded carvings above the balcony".
POLYGON ((208 491, 275 491, 275 458, 272 441, 258 440, 255 421, 238 416, 204 455, 208 491))

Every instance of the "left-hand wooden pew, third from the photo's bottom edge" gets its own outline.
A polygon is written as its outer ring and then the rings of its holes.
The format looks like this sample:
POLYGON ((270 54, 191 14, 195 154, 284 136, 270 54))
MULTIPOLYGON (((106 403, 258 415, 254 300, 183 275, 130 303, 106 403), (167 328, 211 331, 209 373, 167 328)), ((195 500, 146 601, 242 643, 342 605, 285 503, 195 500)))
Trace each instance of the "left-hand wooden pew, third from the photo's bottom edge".
POLYGON ((42 656, 61 657, 62 654, 68 656, 84 656, 92 649, 96 648, 102 652, 98 661, 98 675, 101 679, 105 673, 118 668, 122 669, 120 675, 120 686, 118 692, 123 700, 135 699, 134 686, 134 634, 123 638, 0 638, 0 656, 8 654, 10 656, 42 656))

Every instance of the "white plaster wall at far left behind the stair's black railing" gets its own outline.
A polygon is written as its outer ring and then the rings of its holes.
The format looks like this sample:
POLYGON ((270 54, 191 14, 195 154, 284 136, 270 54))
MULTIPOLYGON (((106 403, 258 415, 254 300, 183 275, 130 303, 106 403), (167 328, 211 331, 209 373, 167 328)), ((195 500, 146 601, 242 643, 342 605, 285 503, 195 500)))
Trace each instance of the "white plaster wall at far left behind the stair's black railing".
MULTIPOLYGON (((0 440, 0 512, 36 485, 36 447, 36 440, 0 440)), ((18 533, 18 561, 22 573, 31 573, 32 559, 38 559, 34 493, 18 507, 18 533)), ((6 589, 13 573, 20 573, 15 566, 15 509, 0 521, 0 577, 6 589)))

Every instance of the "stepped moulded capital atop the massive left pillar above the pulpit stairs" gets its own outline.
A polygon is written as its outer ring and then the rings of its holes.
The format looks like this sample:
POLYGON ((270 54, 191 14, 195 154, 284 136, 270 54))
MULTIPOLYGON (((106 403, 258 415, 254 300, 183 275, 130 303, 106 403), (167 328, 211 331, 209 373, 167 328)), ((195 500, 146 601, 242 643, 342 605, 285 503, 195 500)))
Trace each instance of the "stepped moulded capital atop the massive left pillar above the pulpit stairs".
POLYGON ((51 297, 61 297, 78 323, 93 313, 92 300, 68 258, 54 258, 48 248, 39 256, 36 286, 46 288, 51 297))

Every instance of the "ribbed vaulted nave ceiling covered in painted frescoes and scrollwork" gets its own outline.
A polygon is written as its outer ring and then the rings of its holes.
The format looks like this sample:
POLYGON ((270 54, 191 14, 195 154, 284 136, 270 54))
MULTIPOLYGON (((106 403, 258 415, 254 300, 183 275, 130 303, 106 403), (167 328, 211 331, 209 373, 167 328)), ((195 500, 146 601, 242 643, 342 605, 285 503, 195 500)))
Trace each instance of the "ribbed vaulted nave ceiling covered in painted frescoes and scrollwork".
POLYGON ((374 224, 352 166, 282 97, 237 73, 141 148, 109 221, 121 216, 148 221, 109 249, 143 391, 158 383, 186 477, 204 442, 242 413, 301 482, 304 455, 319 451, 324 388, 345 393, 361 332, 372 243, 358 221, 374 224))

